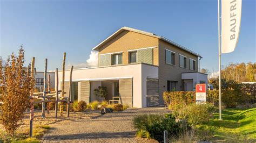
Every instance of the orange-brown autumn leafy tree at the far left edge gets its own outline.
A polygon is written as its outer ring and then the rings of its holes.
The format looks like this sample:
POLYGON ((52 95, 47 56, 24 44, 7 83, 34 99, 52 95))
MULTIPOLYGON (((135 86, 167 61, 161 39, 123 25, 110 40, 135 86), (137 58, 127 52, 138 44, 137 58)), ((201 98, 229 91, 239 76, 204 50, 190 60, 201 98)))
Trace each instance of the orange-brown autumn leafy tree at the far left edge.
MULTIPOLYGON (((23 112, 30 107, 30 93, 34 89, 34 78, 31 76, 30 64, 24 67, 24 49, 19 49, 18 56, 12 53, 0 70, 2 85, 2 121, 5 130, 11 136, 21 126, 23 112)), ((2 67, 2 65, 0 65, 2 67)))

